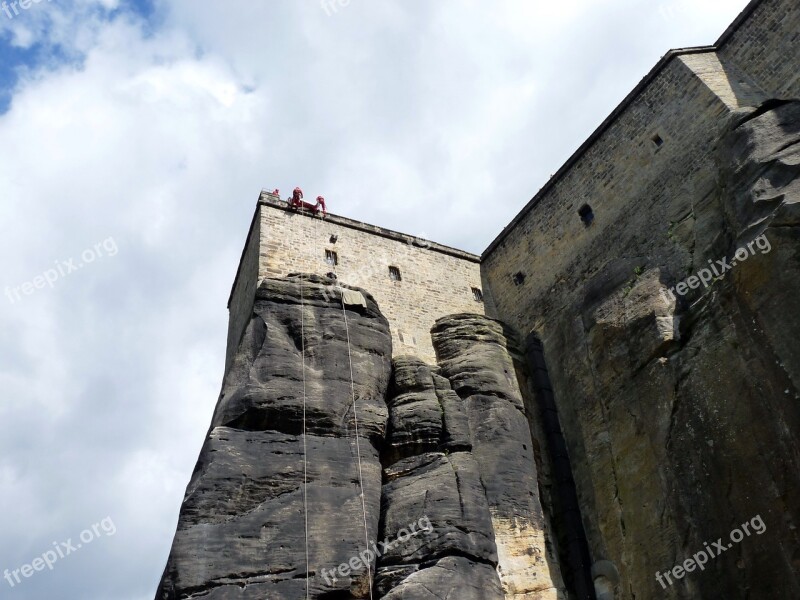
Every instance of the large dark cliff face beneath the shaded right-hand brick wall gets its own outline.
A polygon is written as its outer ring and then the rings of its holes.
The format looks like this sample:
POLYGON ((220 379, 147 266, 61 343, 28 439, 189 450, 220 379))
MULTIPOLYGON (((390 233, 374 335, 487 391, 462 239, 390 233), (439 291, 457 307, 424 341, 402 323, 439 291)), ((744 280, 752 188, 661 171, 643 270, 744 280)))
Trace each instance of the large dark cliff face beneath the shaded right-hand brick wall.
POLYGON ((733 114, 716 181, 680 199, 669 253, 609 260, 543 314, 590 552, 618 570, 614 598, 800 597, 798 142, 799 102, 733 114), (708 287, 667 292, 722 260, 731 269, 708 287), (717 540, 703 569, 659 583, 717 540))

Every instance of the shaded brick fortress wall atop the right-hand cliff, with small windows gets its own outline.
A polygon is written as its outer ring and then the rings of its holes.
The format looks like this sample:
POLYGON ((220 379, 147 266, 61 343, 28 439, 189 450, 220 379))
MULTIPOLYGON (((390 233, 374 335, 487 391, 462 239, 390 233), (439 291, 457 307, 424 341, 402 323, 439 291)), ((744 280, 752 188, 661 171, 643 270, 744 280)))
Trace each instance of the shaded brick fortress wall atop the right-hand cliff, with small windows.
POLYGON ((715 152, 731 111, 800 97, 798 65, 793 0, 753 2, 717 45, 666 54, 483 253, 497 315, 537 330, 548 297, 568 296, 618 250, 674 254, 670 225, 716 185, 715 152), (584 204, 591 227, 578 216, 584 204), (624 230, 628 219, 636 226, 624 230), (609 248, 609 231, 617 247, 609 248), (517 272, 530 276, 524 286, 514 284, 517 272))

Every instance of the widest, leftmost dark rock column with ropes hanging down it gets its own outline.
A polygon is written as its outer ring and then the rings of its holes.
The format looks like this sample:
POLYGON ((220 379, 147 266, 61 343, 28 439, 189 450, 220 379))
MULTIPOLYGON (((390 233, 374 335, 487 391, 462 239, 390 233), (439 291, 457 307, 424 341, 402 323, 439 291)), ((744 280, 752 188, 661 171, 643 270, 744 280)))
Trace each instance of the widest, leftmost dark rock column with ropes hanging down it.
POLYGON ((290 276, 259 286, 156 600, 299 600, 307 578, 311 598, 370 597, 366 568, 333 570, 377 539, 391 337, 365 293, 366 308, 347 310, 348 348, 340 293, 324 283, 290 276))

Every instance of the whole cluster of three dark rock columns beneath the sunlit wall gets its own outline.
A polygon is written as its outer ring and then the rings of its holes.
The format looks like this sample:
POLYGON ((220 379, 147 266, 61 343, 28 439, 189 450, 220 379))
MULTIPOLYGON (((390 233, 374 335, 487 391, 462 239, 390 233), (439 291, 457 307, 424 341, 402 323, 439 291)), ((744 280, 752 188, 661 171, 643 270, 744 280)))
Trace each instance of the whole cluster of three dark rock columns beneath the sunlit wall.
POLYGON ((441 367, 392 362, 372 297, 332 284, 258 287, 156 600, 563 597, 500 324, 443 319, 441 367))

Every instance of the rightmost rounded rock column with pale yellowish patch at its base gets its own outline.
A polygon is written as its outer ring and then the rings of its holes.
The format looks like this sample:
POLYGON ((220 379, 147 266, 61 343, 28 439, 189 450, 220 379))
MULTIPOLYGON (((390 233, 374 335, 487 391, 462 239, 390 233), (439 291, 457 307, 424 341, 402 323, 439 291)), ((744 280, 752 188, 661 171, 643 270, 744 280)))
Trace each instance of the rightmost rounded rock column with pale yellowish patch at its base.
POLYGON ((432 334, 441 373, 469 418, 505 597, 555 600, 531 433, 502 326, 479 315, 450 315, 432 334))

